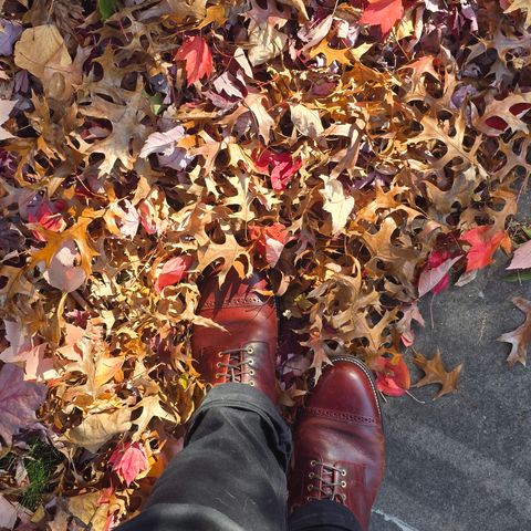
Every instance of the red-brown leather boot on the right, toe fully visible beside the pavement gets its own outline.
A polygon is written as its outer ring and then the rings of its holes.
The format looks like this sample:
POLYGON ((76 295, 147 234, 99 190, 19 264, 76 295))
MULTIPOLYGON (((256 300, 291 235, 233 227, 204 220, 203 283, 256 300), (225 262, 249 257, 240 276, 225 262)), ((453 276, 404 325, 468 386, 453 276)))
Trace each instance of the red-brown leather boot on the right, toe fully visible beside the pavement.
POLYGON ((293 447, 290 512, 312 500, 333 499, 367 530, 384 476, 385 442, 377 392, 361 361, 342 356, 324 368, 295 424, 293 447), (337 485, 326 486, 321 478, 337 485))

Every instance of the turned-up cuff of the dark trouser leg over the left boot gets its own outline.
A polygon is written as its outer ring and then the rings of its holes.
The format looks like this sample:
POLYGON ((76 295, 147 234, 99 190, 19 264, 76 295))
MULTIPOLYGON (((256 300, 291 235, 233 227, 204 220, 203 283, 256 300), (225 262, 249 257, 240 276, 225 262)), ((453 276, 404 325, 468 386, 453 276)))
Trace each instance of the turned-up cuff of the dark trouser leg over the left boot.
POLYGON ((264 393, 250 385, 230 383, 212 387, 190 419, 185 437, 185 446, 194 437, 195 426, 200 423, 207 412, 218 407, 230 407, 258 414, 274 436, 275 454, 280 466, 284 470, 288 469, 292 450, 291 430, 271 399, 264 393))

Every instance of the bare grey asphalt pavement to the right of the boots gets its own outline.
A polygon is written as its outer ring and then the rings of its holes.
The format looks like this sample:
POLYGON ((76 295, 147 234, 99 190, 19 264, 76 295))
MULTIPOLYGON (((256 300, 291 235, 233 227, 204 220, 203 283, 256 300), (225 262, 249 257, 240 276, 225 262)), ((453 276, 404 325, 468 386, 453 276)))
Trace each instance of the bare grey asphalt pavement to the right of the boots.
MULTIPOLYGON (((529 198, 519 218, 531 222, 529 198)), ((415 348, 440 348, 447 369, 462 363, 457 393, 431 402, 436 385, 384 406, 387 469, 371 531, 531 530, 531 374, 509 367, 508 343, 496 339, 524 315, 513 296, 531 300, 531 281, 502 279, 509 259, 462 287, 420 304, 426 327, 415 348)), ((413 353, 407 353, 408 365, 413 353)), ((531 354, 530 354, 531 365, 531 354)), ((412 368, 413 382, 421 372, 412 368)))

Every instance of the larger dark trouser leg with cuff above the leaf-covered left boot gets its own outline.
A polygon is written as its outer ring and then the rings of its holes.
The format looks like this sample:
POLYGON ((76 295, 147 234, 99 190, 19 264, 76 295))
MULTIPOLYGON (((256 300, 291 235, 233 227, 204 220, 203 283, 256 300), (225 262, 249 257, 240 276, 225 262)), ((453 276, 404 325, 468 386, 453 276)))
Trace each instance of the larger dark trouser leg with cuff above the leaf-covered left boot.
POLYGON ((266 395, 241 384, 216 386, 147 508, 121 531, 285 530, 290 454, 290 430, 266 395))

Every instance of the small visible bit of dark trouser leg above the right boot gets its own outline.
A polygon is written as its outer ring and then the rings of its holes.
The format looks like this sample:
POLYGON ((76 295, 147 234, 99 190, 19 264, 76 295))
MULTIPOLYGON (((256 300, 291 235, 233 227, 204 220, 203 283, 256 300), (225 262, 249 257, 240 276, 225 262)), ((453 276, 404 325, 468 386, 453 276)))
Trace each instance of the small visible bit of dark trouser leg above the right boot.
POLYGON ((344 506, 331 500, 311 501, 290 516, 290 531, 362 531, 356 517, 344 506))

